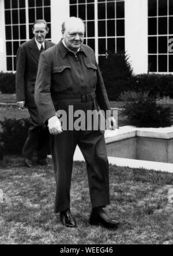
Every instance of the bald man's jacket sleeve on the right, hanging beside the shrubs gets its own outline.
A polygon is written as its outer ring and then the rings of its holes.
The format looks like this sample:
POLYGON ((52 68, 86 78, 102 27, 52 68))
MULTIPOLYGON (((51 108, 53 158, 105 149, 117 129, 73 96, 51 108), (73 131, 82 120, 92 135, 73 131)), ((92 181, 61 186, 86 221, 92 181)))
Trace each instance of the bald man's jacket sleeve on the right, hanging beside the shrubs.
POLYGON ((99 104, 100 109, 103 109, 104 111, 111 109, 99 65, 97 65, 96 101, 99 104))

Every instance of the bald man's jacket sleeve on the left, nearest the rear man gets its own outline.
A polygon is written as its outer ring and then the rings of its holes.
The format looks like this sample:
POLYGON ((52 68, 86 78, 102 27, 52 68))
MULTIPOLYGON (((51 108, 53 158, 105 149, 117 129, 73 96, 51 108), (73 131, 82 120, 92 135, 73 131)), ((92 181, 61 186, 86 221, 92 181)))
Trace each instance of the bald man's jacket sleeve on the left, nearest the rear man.
POLYGON ((44 123, 55 116, 56 111, 51 98, 51 63, 46 52, 42 53, 39 59, 35 83, 35 103, 44 123))

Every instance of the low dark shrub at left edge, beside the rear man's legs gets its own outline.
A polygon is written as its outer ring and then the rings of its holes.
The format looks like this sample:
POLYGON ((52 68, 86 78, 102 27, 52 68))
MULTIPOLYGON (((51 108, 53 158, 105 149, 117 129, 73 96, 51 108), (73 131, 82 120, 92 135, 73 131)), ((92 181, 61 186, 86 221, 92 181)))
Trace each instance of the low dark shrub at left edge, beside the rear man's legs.
POLYGON ((22 147, 28 134, 29 118, 6 119, 0 122, 2 132, 0 141, 3 143, 3 152, 7 154, 21 154, 22 147))

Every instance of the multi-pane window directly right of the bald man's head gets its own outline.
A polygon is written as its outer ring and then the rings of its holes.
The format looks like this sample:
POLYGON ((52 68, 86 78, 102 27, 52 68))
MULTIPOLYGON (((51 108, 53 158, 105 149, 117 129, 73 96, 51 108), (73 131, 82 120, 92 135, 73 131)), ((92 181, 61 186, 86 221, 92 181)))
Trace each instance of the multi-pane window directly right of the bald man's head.
POLYGON ((125 51, 124 0, 70 0, 70 16, 85 21, 85 43, 99 58, 106 56, 107 50, 125 51))

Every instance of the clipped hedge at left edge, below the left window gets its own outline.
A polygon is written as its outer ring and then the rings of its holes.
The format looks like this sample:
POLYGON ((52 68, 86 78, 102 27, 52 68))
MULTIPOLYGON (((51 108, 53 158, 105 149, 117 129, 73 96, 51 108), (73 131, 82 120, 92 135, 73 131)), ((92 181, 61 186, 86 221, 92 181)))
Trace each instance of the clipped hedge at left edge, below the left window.
POLYGON ((13 94, 16 92, 15 86, 15 74, 12 72, 4 73, 0 72, 0 92, 13 94))

